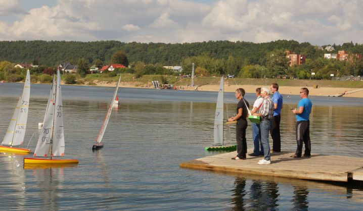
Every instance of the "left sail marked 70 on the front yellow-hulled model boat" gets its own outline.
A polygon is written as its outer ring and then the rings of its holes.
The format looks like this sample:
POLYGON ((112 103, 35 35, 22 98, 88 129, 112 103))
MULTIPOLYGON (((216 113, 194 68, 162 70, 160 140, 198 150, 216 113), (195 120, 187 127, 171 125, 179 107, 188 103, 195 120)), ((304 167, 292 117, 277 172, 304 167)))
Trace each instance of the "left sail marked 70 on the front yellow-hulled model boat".
POLYGON ((34 150, 34 156, 39 157, 48 157, 50 156, 50 147, 51 147, 51 138, 52 138, 52 130, 53 130, 53 113, 54 113, 54 99, 55 99, 55 89, 56 84, 54 82, 53 77, 53 84, 51 88, 51 95, 48 99, 46 116, 44 117, 43 126, 40 131, 38 143, 36 144, 36 148, 34 150))

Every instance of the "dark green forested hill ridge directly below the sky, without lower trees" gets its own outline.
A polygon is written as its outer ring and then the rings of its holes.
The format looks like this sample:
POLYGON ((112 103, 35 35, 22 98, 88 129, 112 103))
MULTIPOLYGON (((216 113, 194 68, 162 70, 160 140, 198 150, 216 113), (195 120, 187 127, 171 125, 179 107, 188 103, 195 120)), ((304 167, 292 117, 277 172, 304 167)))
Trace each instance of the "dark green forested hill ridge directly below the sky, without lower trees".
MULTIPOLYGON (((363 54, 362 44, 352 42, 333 45, 335 51, 344 49, 352 53, 363 54)), ((274 49, 291 50, 307 56, 307 59, 323 57, 325 51, 308 42, 277 40, 266 43, 244 41, 208 41, 194 43, 124 43, 120 41, 0 41, 0 61, 12 63, 33 63, 39 65, 57 65, 63 61, 74 64, 85 58, 89 64, 100 59, 107 64, 114 52, 122 50, 130 63, 142 61, 145 64, 179 65, 184 59, 208 54, 215 59, 227 59, 229 56, 242 58, 249 64, 264 65, 265 56, 274 49)))

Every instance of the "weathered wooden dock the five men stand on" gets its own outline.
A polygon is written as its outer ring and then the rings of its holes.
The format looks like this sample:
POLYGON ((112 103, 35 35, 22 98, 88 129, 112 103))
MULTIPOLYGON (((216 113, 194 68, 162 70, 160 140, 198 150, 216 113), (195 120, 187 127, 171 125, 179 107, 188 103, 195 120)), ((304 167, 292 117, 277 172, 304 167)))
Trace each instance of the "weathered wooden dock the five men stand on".
POLYGON ((221 153, 180 163, 181 168, 255 174, 306 180, 348 182, 363 181, 363 158, 312 154, 293 158, 294 152, 271 153, 270 165, 257 164, 263 156, 248 156, 247 160, 232 160, 237 152, 221 153))

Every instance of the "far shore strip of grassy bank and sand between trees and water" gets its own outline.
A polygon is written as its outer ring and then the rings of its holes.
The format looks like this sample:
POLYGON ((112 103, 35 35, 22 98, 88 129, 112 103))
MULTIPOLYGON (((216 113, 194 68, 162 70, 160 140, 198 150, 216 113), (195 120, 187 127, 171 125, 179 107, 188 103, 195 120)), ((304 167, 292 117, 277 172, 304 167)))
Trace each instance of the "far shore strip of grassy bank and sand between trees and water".
MULTIPOLYGON (((90 86, 115 86, 118 76, 105 77, 103 74, 88 74, 84 78, 78 75, 62 75, 62 84, 90 85, 90 86), (71 78, 71 80, 70 80, 71 78)), ((170 75, 143 75, 136 78, 134 74, 121 74, 120 87, 130 88, 154 88, 151 81, 159 81, 159 84, 173 84, 177 89, 195 90, 191 87, 191 78, 181 78, 170 75)), ((217 77, 196 77, 195 86, 198 91, 218 91, 220 76, 217 77)), ((342 94, 348 97, 363 97, 363 81, 331 81, 331 80, 300 80, 300 79, 274 79, 274 78, 225 78, 224 85, 226 92, 234 92, 238 87, 244 88, 247 93, 254 93, 257 87, 269 87, 273 82, 279 84, 281 94, 299 94, 300 88, 309 89, 309 95, 332 96, 342 94), (236 85, 237 83, 237 85, 236 85), (316 88, 317 87, 317 88, 316 88)), ((39 83, 33 81, 32 83, 39 83)), ((47 83, 47 82, 46 82, 47 83)), ((50 83, 50 81, 49 81, 50 83)))

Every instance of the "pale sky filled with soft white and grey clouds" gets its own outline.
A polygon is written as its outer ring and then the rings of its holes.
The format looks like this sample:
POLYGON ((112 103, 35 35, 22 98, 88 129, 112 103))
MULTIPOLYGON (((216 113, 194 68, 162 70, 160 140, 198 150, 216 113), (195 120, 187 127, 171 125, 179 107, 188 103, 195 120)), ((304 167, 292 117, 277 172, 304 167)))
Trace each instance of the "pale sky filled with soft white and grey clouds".
POLYGON ((361 0, 0 0, 0 41, 362 43, 361 0))

